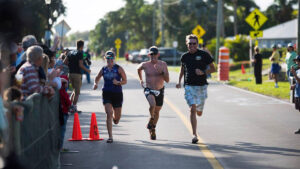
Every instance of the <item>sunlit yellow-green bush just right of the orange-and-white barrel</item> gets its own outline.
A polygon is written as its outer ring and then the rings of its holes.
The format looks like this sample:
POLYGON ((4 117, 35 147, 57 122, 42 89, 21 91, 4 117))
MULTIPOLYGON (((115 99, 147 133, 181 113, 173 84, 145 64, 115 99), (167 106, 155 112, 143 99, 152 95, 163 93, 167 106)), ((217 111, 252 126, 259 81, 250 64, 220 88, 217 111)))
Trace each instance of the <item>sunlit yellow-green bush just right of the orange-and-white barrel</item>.
POLYGON ((246 35, 237 35, 233 40, 226 40, 225 46, 230 50, 234 61, 249 60, 249 40, 246 35))

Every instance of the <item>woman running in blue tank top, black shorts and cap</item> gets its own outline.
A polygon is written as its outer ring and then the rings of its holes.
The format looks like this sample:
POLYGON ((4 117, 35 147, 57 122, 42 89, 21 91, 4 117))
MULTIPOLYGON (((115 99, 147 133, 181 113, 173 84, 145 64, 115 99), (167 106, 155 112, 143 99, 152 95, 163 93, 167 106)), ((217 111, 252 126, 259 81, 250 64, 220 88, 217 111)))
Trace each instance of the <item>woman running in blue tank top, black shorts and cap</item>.
POLYGON ((123 103, 122 85, 127 83, 127 78, 124 69, 114 63, 115 54, 112 51, 105 53, 105 59, 107 65, 102 67, 97 74, 93 89, 96 90, 98 88, 98 82, 103 76, 102 99, 106 112, 106 126, 109 135, 106 142, 112 143, 112 121, 115 124, 118 124, 120 121, 123 103))

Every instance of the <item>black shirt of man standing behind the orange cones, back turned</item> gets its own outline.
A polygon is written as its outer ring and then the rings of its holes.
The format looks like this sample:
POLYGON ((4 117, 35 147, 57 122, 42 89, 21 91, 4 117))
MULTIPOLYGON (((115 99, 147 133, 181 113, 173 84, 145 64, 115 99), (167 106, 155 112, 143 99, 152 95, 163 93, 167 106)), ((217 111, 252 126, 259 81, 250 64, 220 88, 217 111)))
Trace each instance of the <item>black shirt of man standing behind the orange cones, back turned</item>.
POLYGON ((68 54, 68 61, 69 61, 69 72, 81 74, 81 68, 79 67, 79 61, 83 58, 83 52, 79 50, 71 51, 68 54))

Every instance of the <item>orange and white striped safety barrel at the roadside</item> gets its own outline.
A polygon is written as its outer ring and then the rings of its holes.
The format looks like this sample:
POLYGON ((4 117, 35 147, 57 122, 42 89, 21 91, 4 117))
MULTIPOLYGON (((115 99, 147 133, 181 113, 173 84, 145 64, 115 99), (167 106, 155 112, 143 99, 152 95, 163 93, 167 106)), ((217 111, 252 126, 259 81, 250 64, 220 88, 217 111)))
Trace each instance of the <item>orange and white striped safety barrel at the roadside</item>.
POLYGON ((226 47, 219 49, 218 79, 229 80, 229 49, 226 47))

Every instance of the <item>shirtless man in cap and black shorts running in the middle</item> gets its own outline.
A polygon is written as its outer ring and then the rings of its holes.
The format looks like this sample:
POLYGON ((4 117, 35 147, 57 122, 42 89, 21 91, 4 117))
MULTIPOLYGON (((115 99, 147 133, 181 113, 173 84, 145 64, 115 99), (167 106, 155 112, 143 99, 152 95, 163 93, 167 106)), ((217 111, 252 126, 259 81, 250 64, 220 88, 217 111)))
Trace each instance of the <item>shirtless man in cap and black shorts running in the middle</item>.
POLYGON ((149 49, 148 56, 150 61, 142 62, 137 72, 141 86, 144 88, 144 94, 150 105, 150 120, 147 129, 150 132, 151 140, 156 140, 155 127, 159 118, 159 111, 162 108, 164 100, 164 82, 169 82, 169 72, 166 62, 158 60, 159 51, 156 46, 149 49), (146 75, 146 86, 144 86, 142 70, 146 75))

